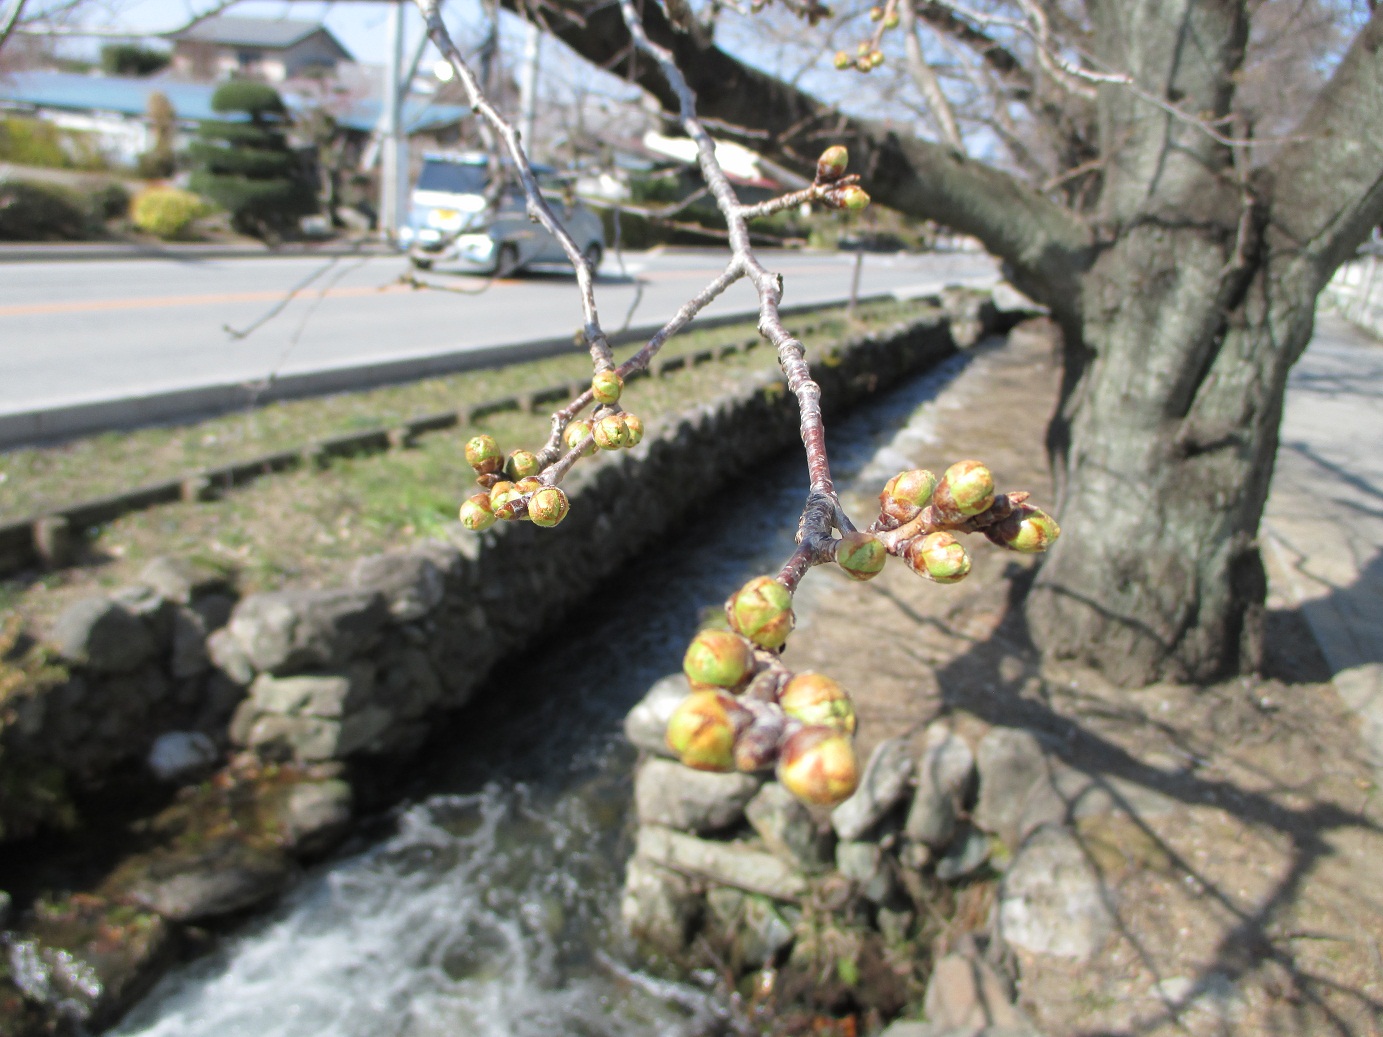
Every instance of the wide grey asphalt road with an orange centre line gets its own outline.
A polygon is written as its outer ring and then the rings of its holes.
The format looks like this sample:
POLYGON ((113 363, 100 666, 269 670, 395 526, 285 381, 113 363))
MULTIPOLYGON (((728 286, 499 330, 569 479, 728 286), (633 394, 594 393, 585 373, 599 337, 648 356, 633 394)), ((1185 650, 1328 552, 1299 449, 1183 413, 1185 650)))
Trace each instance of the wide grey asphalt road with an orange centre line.
MULTIPOLYGON (((841 299, 852 256, 768 253, 784 274, 784 303, 841 299)), ((723 253, 629 253, 602 270, 597 303, 618 328, 642 292, 633 324, 665 319, 709 281, 723 253)), ((862 292, 934 289, 989 279, 983 256, 869 256, 862 292)), ((270 373, 476 350, 570 335, 579 308, 570 274, 499 281, 479 295, 419 292, 398 282, 397 257, 183 259, 7 264, 0 277, 0 415, 254 382, 270 373), (315 274, 315 279, 313 275, 315 274), (271 322, 245 328, 308 282, 271 322)), ((437 277, 472 292, 485 281, 437 277)), ((754 296, 736 285, 705 312, 748 312, 754 296)))

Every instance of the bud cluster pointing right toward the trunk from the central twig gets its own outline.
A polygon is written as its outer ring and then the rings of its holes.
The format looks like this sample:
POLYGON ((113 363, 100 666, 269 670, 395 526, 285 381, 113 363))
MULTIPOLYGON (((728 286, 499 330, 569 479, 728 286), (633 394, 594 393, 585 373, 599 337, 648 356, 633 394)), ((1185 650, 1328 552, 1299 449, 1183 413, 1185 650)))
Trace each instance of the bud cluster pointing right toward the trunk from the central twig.
POLYGON ((878 506, 870 531, 935 583, 957 583, 969 574, 957 534, 982 532, 1000 548, 1029 554, 1047 550, 1061 535, 1057 520, 1029 505, 1026 492, 994 492, 993 473, 978 460, 958 460, 940 478, 925 469, 900 471, 884 487, 878 506))

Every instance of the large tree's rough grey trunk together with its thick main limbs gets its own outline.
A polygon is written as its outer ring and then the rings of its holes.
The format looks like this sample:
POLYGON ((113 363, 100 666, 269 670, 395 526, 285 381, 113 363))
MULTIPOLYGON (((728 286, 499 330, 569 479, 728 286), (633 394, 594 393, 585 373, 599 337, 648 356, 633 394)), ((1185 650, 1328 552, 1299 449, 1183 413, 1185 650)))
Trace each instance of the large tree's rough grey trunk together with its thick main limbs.
MULTIPOLYGON (((618 14, 567 3, 546 8, 550 28, 668 105, 618 14)), ((1311 337, 1317 295, 1383 220, 1383 8, 1297 142, 1249 171, 1207 129, 1224 129, 1253 8, 1088 0, 1095 57, 1205 123, 1101 86, 1105 177, 1084 214, 945 145, 845 118, 644 8, 727 136, 798 167, 846 144, 877 200, 978 236, 1051 307, 1065 333, 1048 434, 1065 535, 1029 596, 1029 626, 1044 651, 1130 684, 1257 662, 1257 532, 1288 369, 1311 337)))

